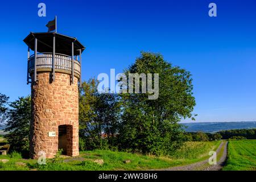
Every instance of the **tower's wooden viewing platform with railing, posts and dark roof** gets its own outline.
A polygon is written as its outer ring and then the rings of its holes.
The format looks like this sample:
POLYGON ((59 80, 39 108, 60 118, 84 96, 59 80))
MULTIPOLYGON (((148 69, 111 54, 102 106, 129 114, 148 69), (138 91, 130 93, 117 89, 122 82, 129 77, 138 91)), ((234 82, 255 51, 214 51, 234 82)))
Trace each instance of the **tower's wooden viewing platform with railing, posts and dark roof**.
POLYGON ((28 46, 27 84, 36 81, 38 72, 52 72, 52 81, 55 72, 71 75, 72 83, 74 76, 81 79, 81 53, 85 47, 76 38, 56 32, 31 32, 23 41, 28 46))

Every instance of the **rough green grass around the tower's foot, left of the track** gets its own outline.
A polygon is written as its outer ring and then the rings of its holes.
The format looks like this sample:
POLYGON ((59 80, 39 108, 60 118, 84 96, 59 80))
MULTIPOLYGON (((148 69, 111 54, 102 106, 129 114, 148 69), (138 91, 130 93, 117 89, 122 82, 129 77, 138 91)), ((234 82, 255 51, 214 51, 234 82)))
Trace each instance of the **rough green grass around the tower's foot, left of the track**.
POLYGON ((9 159, 7 163, 0 162, 0 170, 143 170, 168 168, 180 166, 204 160, 208 158, 208 152, 218 147, 220 141, 214 142, 187 142, 172 156, 152 156, 131 154, 110 150, 94 150, 80 152, 78 157, 60 158, 57 162, 47 159, 46 165, 37 164, 36 160, 22 159, 15 153, 13 155, 1 156, 0 159, 9 159), (101 166, 93 160, 103 159, 101 166), (68 161, 67 161, 68 160, 68 161), (124 160, 131 160, 130 163, 123 163, 124 160), (26 167, 20 167, 15 162, 26 163, 26 167))

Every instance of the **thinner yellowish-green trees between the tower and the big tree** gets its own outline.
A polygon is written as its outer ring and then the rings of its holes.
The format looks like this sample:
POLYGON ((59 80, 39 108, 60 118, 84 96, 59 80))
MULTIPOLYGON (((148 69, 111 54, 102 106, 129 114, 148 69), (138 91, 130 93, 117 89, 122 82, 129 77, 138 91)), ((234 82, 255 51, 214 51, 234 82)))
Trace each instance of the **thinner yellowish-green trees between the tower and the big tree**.
POLYGON ((82 82, 79 94, 80 149, 92 150, 114 146, 118 130, 117 94, 100 94, 94 78, 82 82))

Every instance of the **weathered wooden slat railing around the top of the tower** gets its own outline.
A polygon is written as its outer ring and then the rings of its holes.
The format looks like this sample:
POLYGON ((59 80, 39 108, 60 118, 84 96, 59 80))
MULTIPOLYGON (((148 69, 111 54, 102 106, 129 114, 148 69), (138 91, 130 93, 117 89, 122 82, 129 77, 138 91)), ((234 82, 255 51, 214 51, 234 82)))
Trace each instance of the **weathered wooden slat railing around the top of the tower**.
MULTIPOLYGON (((28 73, 34 72, 35 56, 31 55, 28 60, 28 73)), ((36 55, 36 70, 50 68, 52 69, 52 53, 42 53, 36 55)), ((72 57, 55 53, 55 69, 72 72, 72 57)), ((74 73, 81 76, 81 65, 78 60, 74 59, 74 73)))

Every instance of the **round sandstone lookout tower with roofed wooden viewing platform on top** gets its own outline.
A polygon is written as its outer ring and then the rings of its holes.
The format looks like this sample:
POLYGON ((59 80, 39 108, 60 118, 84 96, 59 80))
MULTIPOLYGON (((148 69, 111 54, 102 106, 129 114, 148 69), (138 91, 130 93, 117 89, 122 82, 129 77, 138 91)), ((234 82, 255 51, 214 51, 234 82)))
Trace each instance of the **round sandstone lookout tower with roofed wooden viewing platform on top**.
POLYGON ((28 46, 27 84, 31 83, 32 97, 30 157, 53 158, 59 149, 77 156, 78 82, 85 47, 76 38, 56 32, 31 32, 23 41, 28 46))

